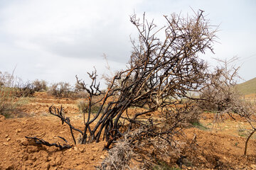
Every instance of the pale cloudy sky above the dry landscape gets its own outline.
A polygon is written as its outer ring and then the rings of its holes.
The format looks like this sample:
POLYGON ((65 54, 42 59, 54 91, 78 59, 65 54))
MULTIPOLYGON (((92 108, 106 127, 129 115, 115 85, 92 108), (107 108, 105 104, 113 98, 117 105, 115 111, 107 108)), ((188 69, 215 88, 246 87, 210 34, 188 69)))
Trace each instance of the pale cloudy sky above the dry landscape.
POLYGON ((146 13, 165 26, 163 15, 193 15, 205 11, 219 26, 213 55, 201 56, 215 65, 239 57, 240 77, 256 77, 256 1, 254 0, 0 0, 0 72, 13 72, 23 81, 75 84, 75 75, 90 83, 94 67, 99 78, 125 69, 137 31, 129 16, 146 13), (107 61, 111 72, 107 69, 107 61))

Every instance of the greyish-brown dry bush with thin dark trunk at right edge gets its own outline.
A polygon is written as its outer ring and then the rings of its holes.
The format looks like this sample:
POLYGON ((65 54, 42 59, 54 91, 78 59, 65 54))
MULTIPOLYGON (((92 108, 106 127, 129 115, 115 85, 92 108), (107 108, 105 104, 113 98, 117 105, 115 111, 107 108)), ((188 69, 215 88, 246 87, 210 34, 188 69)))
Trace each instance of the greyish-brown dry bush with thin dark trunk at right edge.
MULTIPOLYGON (((247 142, 256 131, 256 106, 253 103, 242 100, 240 91, 236 89, 239 67, 233 64, 237 57, 230 60, 218 60, 220 66, 215 68, 212 74, 209 74, 208 79, 201 89, 201 101, 199 106, 208 111, 213 111, 217 115, 216 120, 219 120, 224 113, 233 118, 233 114, 240 115, 245 118, 247 123, 250 124, 250 135, 245 142, 245 153, 247 152, 247 142)), ((235 118, 233 118, 235 120, 235 118)))

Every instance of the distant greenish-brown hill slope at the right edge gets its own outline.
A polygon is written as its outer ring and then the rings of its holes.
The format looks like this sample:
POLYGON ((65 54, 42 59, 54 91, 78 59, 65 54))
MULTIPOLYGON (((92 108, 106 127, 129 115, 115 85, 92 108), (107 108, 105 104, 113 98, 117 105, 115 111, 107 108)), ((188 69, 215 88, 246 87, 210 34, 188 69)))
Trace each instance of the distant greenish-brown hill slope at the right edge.
POLYGON ((256 77, 245 81, 242 84, 238 84, 238 90, 243 94, 256 94, 256 77))

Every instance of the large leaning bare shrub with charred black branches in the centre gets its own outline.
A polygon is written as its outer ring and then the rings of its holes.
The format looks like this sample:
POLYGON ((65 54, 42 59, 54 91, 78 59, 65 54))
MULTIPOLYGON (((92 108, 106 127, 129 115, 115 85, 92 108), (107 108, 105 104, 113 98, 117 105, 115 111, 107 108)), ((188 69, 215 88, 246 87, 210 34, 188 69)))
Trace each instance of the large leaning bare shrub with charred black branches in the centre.
MULTIPOLYGON (((100 89, 96 69, 87 73, 91 79, 89 85, 76 77, 88 94, 83 130, 75 129, 70 119, 61 113, 62 109, 54 113, 50 108, 50 113, 70 126, 72 135, 73 130, 80 132, 82 144, 106 140, 108 149, 124 137, 134 146, 141 146, 138 142, 144 139, 163 142, 169 147, 177 145, 174 135, 196 108, 188 94, 197 91, 208 77, 207 65, 198 55, 206 50, 213 51, 216 29, 203 18, 203 11, 193 17, 183 18, 174 13, 164 18, 167 25, 157 28, 154 21, 146 20, 145 14, 142 19, 135 14, 130 17, 139 38, 132 40, 133 51, 127 69, 112 77, 106 91, 100 89), (165 35, 163 40, 158 38, 160 33, 165 35), (92 113, 92 107, 99 103, 97 113, 92 113), (142 109, 130 115, 131 107, 142 109), (159 114, 146 116, 154 112, 159 114), (137 135, 132 135, 134 130, 137 135)), ((76 143, 74 136, 73 140, 76 143)), ((144 146, 154 145, 149 141, 143 143, 144 146)), ((154 152, 161 152, 161 149, 154 152)), ((142 159, 154 157, 154 153, 145 151, 139 155, 142 159)))

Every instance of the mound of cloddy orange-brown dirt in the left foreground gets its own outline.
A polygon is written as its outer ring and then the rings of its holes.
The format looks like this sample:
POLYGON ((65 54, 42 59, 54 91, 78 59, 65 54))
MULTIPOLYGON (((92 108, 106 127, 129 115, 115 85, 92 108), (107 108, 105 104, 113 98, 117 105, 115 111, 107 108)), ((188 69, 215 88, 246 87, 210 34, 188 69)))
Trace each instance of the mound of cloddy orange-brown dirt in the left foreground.
POLYGON ((52 117, 9 119, 0 127, 0 169, 95 169, 106 154, 105 142, 60 150, 26 140, 25 136, 36 136, 63 144, 60 135, 72 143, 69 128, 52 117))

